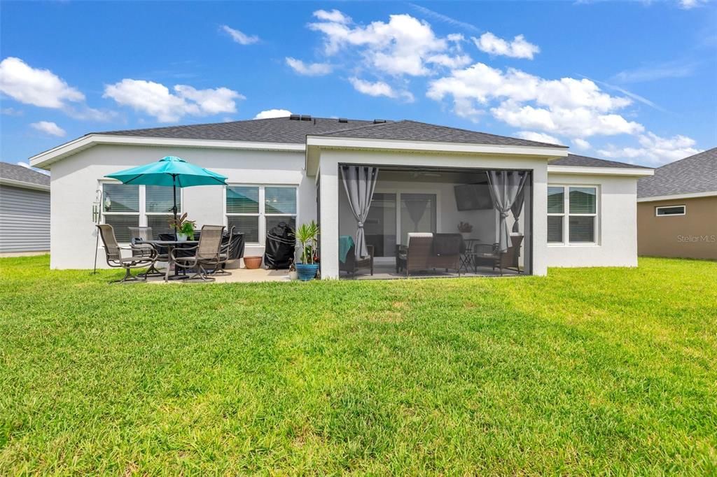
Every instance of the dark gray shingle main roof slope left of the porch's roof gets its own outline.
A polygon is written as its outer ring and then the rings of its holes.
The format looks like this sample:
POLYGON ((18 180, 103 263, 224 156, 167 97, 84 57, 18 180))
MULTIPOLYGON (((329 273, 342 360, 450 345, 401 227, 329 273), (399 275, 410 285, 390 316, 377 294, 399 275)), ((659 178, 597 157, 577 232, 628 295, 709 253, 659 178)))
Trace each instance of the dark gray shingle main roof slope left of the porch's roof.
POLYGON ((250 141, 254 143, 295 143, 306 142, 308 134, 324 134, 333 131, 373 124, 372 121, 348 120, 325 117, 310 121, 290 120, 288 117, 272 117, 264 120, 215 122, 187 126, 151 127, 124 131, 106 131, 99 134, 117 136, 142 136, 145 138, 207 139, 250 141))

